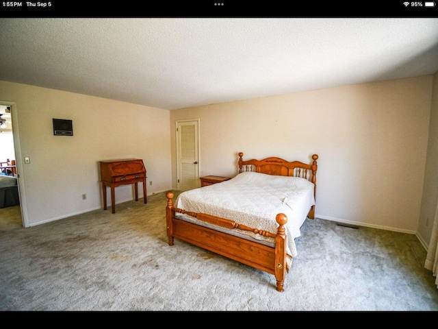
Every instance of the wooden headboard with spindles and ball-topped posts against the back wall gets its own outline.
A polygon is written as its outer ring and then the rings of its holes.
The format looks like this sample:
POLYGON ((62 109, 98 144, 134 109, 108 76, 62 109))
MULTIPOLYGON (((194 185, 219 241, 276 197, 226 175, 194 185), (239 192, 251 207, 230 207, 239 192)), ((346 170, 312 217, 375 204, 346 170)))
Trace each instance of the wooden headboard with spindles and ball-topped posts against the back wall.
MULTIPOLYGON (((309 180, 314 184, 313 196, 316 197, 316 170, 318 169, 318 154, 313 154, 313 162, 306 164, 300 161, 286 161, 282 158, 266 158, 263 160, 243 160, 243 152, 239 153, 239 173, 244 171, 255 171, 256 173, 267 173, 268 175, 294 176, 309 180)), ((309 218, 315 218, 315 206, 309 211, 309 218)))

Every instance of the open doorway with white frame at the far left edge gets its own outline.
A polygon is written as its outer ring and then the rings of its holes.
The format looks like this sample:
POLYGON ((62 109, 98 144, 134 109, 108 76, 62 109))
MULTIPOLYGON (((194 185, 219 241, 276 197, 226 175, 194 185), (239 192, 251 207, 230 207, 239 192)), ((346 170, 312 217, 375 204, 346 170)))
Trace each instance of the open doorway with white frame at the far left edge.
MULTIPOLYGON (((21 161, 21 147, 20 147, 20 136, 18 131, 18 116, 17 116, 17 107, 16 103, 10 102, 10 101, 0 101, 0 113, 8 112, 7 119, 8 119, 8 125, 6 125, 6 128, 4 131, 0 132, 0 134, 8 134, 8 136, 5 136, 3 138, 3 141, 5 143, 8 143, 8 147, 2 145, 1 151, 0 151, 0 159, 3 159, 3 157, 10 158, 10 160, 15 160, 16 162, 16 178, 17 178, 17 184, 18 184, 18 195, 20 199, 20 204, 14 207, 9 208, 1 208, 0 210, 3 210, 3 215, 6 216, 14 216, 17 218, 21 217, 21 226, 24 228, 29 227, 29 219, 27 217, 27 211, 25 206, 25 186, 23 182, 23 175, 21 174, 21 168, 22 168, 22 161, 21 161), (4 146, 4 148, 3 148, 4 146), (6 151, 8 149, 8 151, 6 151), (4 154, 3 154, 4 152, 4 154)), ((2 116, 3 117, 3 116, 2 116)), ((6 117, 6 116, 5 116, 6 117)), ((3 161, 3 160, 1 160, 3 161)))

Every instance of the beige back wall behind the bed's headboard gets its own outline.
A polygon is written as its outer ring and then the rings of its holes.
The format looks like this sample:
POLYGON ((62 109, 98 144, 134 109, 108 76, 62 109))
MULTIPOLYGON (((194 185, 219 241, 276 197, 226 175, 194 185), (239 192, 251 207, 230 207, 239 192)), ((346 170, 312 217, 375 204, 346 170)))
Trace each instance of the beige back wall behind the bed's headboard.
POLYGON ((201 175, 237 174, 244 158, 310 161, 318 154, 316 216, 417 231, 433 76, 342 86, 172 110, 200 119, 201 175))

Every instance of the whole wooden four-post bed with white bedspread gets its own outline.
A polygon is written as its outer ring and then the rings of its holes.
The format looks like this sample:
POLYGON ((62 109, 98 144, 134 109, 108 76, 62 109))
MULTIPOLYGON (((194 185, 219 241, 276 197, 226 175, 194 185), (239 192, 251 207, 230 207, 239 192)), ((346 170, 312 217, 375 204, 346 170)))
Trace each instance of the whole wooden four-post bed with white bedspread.
POLYGON ((283 291, 297 255, 294 239, 315 218, 318 155, 309 164, 270 157, 243 160, 231 180, 181 193, 168 191, 166 230, 174 239, 271 273, 283 291))

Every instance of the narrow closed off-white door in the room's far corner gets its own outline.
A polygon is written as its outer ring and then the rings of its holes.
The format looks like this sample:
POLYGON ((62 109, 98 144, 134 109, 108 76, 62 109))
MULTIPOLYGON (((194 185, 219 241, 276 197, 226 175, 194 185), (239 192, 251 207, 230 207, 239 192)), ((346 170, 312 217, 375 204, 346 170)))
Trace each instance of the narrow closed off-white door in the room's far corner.
POLYGON ((177 121, 178 190, 188 191, 199 184, 199 120, 177 121))

